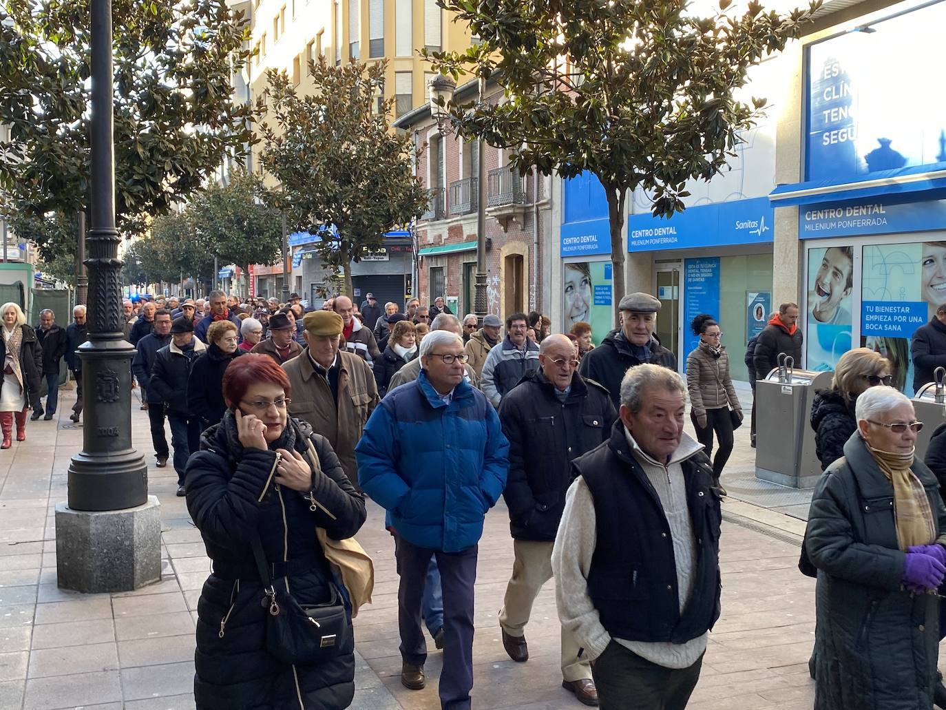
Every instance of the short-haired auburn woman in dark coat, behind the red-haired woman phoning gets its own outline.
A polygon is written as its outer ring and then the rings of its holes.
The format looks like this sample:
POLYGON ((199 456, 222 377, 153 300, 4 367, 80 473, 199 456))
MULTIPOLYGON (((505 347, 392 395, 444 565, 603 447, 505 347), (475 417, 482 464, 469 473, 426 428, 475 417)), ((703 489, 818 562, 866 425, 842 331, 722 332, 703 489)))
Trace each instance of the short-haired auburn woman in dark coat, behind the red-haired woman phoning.
POLYGON ((198 356, 187 380, 188 409, 201 419, 201 431, 223 418, 227 405, 223 401, 223 373, 234 358, 245 355, 236 346, 236 324, 214 321, 207 328, 210 346, 198 356))

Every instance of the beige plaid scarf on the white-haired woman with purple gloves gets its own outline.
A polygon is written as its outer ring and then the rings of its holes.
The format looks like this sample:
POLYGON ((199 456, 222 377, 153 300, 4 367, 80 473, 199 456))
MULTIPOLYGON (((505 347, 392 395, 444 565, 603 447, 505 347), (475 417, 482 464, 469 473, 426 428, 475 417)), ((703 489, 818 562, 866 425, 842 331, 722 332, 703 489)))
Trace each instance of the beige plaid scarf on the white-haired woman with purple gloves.
POLYGON ((867 451, 893 484, 893 517, 897 526, 897 544, 906 552, 913 545, 928 545, 937 539, 937 526, 926 490, 910 470, 914 452, 893 453, 874 449, 867 441, 867 451))

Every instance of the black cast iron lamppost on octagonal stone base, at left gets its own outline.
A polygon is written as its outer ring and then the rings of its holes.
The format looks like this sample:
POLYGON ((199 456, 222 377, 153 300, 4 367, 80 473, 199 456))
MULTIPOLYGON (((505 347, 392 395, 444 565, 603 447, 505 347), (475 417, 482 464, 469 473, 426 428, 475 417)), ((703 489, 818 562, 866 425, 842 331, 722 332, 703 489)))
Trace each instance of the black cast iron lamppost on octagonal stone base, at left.
POLYGON ((56 506, 59 586, 137 589, 161 578, 158 501, 131 446, 131 358, 122 334, 114 214, 112 2, 92 0, 92 228, 88 234, 89 341, 79 347, 85 422, 69 466, 68 504, 56 506))

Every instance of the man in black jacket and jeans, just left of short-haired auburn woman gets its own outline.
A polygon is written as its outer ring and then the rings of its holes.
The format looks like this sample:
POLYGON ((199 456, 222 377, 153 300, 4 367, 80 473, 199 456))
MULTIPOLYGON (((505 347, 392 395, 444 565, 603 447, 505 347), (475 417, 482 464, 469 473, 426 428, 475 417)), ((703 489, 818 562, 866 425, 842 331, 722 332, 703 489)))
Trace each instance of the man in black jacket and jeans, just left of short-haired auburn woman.
POLYGON ((187 381, 194 360, 205 349, 206 346, 195 337, 191 322, 178 318, 171 324, 171 342, 158 350, 151 368, 149 390, 154 392, 149 397, 161 399, 166 407, 179 496, 184 495, 187 458, 201 446, 201 420, 187 404, 187 381))

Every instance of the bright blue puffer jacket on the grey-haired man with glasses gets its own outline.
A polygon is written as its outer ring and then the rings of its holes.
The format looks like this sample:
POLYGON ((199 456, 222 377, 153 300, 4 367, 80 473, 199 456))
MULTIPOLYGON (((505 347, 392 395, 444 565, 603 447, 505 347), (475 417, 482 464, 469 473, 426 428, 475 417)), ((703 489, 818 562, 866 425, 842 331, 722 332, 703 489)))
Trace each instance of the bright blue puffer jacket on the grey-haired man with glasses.
POLYGON ((482 392, 464 381, 446 404, 423 371, 381 399, 355 455, 361 488, 398 534, 444 552, 480 540, 509 469, 509 442, 482 392))

